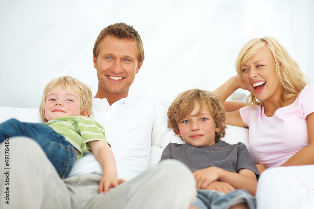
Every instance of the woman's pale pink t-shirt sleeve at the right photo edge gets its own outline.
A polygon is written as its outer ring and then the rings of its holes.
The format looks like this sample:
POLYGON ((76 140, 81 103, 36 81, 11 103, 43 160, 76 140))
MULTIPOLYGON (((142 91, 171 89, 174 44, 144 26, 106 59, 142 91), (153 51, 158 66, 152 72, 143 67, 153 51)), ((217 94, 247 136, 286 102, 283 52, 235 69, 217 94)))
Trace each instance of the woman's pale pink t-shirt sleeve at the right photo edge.
POLYGON ((306 85, 301 92, 301 108, 304 112, 304 118, 314 112, 314 86, 306 85))

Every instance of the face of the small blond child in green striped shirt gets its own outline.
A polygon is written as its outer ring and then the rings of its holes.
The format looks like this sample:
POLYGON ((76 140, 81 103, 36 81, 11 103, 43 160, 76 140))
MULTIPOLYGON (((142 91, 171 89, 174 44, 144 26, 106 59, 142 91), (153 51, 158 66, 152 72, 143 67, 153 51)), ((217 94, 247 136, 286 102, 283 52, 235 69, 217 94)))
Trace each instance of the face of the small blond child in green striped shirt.
POLYGON ((81 97, 75 91, 70 88, 64 90, 58 86, 48 92, 45 106, 48 121, 63 116, 79 116, 80 112, 81 97))

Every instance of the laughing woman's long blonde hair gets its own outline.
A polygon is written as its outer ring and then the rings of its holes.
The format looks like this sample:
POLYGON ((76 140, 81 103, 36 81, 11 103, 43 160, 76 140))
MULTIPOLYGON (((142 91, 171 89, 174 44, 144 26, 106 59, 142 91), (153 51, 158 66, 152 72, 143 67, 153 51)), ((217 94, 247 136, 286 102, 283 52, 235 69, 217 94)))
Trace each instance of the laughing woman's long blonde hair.
MULTIPOLYGON (((287 100, 297 97, 304 86, 309 84, 309 81, 300 70, 297 62, 279 41, 271 36, 264 36, 263 38, 255 38, 248 41, 239 52, 236 60, 236 72, 242 78, 241 65, 263 46, 267 46, 270 49, 275 59, 276 74, 281 85, 280 104, 285 107, 289 105, 289 103, 287 104, 287 100)), ((246 103, 251 106, 264 106, 263 101, 258 101, 252 92, 247 96, 246 103)))

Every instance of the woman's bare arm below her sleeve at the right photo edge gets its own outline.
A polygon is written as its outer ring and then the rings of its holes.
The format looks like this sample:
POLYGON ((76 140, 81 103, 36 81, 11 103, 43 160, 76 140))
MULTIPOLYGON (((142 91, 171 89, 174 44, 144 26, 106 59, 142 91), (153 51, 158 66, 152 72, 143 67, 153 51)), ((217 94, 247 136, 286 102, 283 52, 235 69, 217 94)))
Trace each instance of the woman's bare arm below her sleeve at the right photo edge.
POLYGON ((314 164, 314 112, 306 117, 306 122, 309 145, 301 149, 281 166, 314 164))

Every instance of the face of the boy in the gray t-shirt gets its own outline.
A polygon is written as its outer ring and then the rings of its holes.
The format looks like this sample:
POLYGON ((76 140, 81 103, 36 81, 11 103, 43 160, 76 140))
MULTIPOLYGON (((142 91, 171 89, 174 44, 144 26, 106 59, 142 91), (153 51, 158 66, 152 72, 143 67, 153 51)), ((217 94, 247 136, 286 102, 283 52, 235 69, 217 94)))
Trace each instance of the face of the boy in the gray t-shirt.
POLYGON ((178 135, 185 143, 194 147, 215 144, 215 132, 219 132, 220 128, 216 127, 208 105, 203 107, 203 111, 198 116, 192 116, 198 110, 199 104, 196 103, 193 111, 179 122, 178 135))

